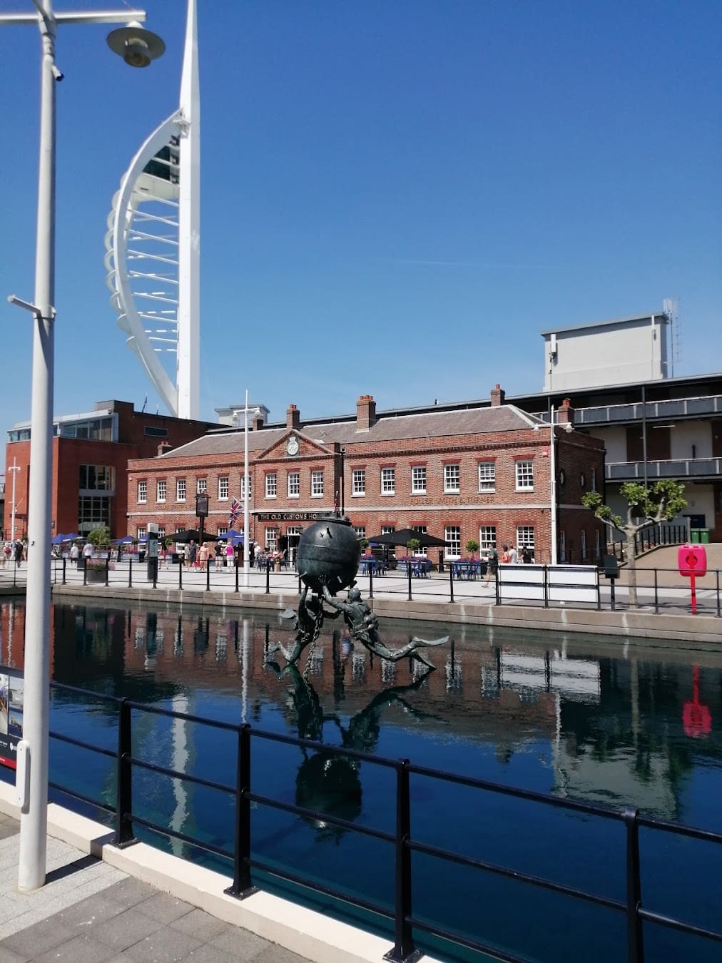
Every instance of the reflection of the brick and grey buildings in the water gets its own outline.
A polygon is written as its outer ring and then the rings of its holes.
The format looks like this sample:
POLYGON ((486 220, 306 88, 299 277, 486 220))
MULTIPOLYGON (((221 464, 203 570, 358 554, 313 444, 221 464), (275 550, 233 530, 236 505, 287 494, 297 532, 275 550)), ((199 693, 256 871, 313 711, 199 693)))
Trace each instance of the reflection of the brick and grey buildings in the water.
MULTIPOLYGON (((193 700, 202 675, 203 690, 211 699, 213 690, 238 699, 239 718, 247 712, 255 724, 270 706, 293 724, 287 715, 288 692, 265 665, 270 643, 288 637, 283 620, 271 612, 253 612, 239 620, 208 610, 199 620, 197 612, 157 612, 154 642, 147 639, 146 644, 145 609, 109 614, 58 606, 55 677, 88 685, 111 676, 116 689, 104 682, 105 690, 153 701, 169 700, 178 692, 193 700), (164 638, 172 639, 172 645, 164 645, 164 638)), ((5 605, 6 643, 8 616, 5 605)), ((17 623, 24 624, 21 607, 17 623)), ((521 644, 518 634, 498 628, 493 635, 477 626, 451 627, 451 633, 454 644, 443 650, 445 664, 425 674, 414 692, 414 705, 428 716, 423 728, 430 738, 443 735, 445 741, 490 746, 503 761, 520 753, 546 757, 549 762, 541 765, 554 768, 556 792, 675 813, 674 800, 690 765, 684 754, 691 751, 692 741, 684 735, 683 710, 692 693, 691 666, 662 662, 668 654, 648 655, 645 663, 620 660, 604 640, 567 638, 564 643, 561 636, 550 636, 554 649, 547 651, 531 642, 521 644), (605 654, 591 658, 590 648, 605 654)), ((384 623, 384 641, 392 647, 404 644, 409 634, 423 635, 424 628, 384 623)), ((709 672, 702 660, 699 700, 709 705, 716 720, 722 697, 719 660, 715 663, 714 658, 708 658, 714 666, 709 672)), ((372 659, 358 646, 346 652, 340 638, 334 650, 329 631, 315 644, 308 677, 324 711, 351 717, 380 690, 419 681, 418 668, 407 660, 393 664, 372 659)), ((419 730, 418 722, 398 705, 384 711, 382 724, 419 730)), ((180 735, 174 738, 180 744, 180 735)), ((712 727, 708 742, 714 738, 712 727)), ((712 745, 707 751, 713 755, 716 750, 712 745)))

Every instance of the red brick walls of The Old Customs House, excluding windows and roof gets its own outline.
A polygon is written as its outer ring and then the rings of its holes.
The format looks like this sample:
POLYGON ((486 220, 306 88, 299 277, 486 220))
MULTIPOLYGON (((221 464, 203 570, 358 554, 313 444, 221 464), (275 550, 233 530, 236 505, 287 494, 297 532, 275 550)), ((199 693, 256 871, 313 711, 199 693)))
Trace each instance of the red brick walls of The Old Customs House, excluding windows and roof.
MULTIPOLYGON (((302 432, 302 429, 301 429, 302 432)), ((292 518, 259 521, 254 514, 279 512, 317 512, 333 507, 340 459, 329 448, 322 448, 300 435, 300 451, 296 457, 286 455, 283 441, 251 463, 251 534, 258 541, 264 540, 264 529, 278 528, 284 534, 291 525, 307 525, 309 522, 292 518), (310 495, 311 471, 322 470, 324 495, 310 495), (269 472, 277 477, 275 499, 265 498, 265 478, 269 472), (288 473, 300 473, 299 498, 288 497, 288 473)), ((587 530, 587 546, 594 545, 593 530, 600 523, 594 522, 591 512, 580 505, 580 470, 583 467, 588 478, 596 469, 598 485, 604 479, 604 448, 602 442, 577 432, 562 434, 558 442, 558 466, 565 471, 565 484, 559 485, 558 528, 567 533, 579 546, 580 530, 587 530)), ((516 541, 516 526, 534 527, 536 558, 550 558, 551 485, 549 476, 549 436, 540 438, 532 429, 499 432, 495 435, 452 435, 443 438, 409 439, 372 443, 370 440, 354 440, 346 444, 345 457, 345 508, 354 526, 363 526, 367 535, 380 533, 382 525, 397 529, 413 525, 425 525, 429 534, 443 537, 445 526, 461 527, 462 554, 470 538, 478 539, 479 526, 496 525, 497 541, 516 541), (530 459, 534 466, 534 490, 516 491, 515 461, 530 459), (478 491, 478 462, 492 460, 496 465, 496 489, 493 493, 478 491), (411 466, 425 464, 426 493, 411 493, 411 466), (460 494, 444 492, 444 465, 459 464, 460 494), (381 468, 395 467, 396 494, 381 495, 381 468), (351 475, 354 468, 366 469, 366 495, 351 494, 351 475)), ((208 481, 209 517, 206 527, 216 532, 219 526, 228 524, 228 508, 233 496, 241 496, 241 476, 244 471, 243 455, 204 457, 202 463, 187 456, 166 455, 162 459, 134 459, 128 464, 128 512, 129 532, 153 521, 166 528, 168 533, 176 527, 196 527, 194 495, 196 481, 208 481), (219 502, 219 476, 229 476, 229 500, 219 502), (186 479, 187 501, 175 502, 175 481, 186 479), (166 505, 156 502, 156 481, 167 482, 166 505), (148 501, 137 501, 138 481, 147 481, 148 501)), ((586 482, 588 489, 589 482, 586 482)), ((239 523, 242 525, 242 522, 239 523)))

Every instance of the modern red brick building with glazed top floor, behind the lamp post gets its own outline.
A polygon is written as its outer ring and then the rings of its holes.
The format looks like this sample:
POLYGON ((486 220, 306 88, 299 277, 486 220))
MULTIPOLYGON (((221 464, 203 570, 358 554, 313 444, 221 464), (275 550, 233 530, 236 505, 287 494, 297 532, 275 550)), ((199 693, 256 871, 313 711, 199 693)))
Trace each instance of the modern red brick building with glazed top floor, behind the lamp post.
MULTIPOLYGON (((97 402, 92 411, 56 417, 53 423, 53 534, 86 534, 107 525, 114 537, 128 534, 129 458, 156 455, 159 447, 183 445, 213 423, 184 421, 136 411, 130 402, 97 402)), ((30 423, 13 426, 5 449, 6 477, 15 475, 16 538, 27 532, 30 485, 30 423), (19 470, 14 472, 13 464, 19 470)), ((12 483, 5 500, 3 531, 11 537, 12 483)))

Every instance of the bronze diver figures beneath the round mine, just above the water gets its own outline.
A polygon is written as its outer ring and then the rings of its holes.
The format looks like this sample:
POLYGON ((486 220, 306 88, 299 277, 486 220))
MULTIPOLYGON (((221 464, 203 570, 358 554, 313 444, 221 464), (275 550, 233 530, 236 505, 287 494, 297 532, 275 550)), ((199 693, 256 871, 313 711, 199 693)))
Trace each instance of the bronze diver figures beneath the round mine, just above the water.
MULTIPOLYGON (((281 612, 282 618, 293 618, 296 620, 296 639, 294 644, 286 648, 281 642, 276 642, 269 650, 269 657, 280 652, 286 662, 296 665, 304 650, 308 646, 315 645, 321 634, 324 618, 338 618, 344 616, 344 621, 348 627, 348 635, 354 642, 359 642, 365 646, 369 652, 387 662, 399 662, 400 659, 411 658, 426 666, 429 671, 436 666, 419 651, 422 648, 431 648, 435 645, 444 645, 449 641, 449 636, 442 638, 425 639, 412 638, 406 645, 399 649, 390 649, 385 645, 378 635, 378 618, 368 602, 361 597, 360 590, 353 586, 348 589, 348 597, 345 602, 338 601, 328 590, 327 586, 322 586, 322 596, 316 592, 308 595, 308 586, 304 586, 298 602, 298 612, 287 609, 281 612), (328 612, 324 606, 325 602, 331 607, 328 612)), ((309 662, 313 648, 309 652, 309 662)))

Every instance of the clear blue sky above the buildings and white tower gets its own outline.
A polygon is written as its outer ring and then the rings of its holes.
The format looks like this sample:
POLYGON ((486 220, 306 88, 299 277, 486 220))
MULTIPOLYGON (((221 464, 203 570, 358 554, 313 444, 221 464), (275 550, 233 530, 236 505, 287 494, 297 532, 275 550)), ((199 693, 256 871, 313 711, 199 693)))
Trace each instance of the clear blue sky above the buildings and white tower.
MULTIPOLYGON (((58 12, 112 0, 56 0, 58 12)), ((3 0, 3 10, 32 8, 3 0)), ((178 101, 104 26, 57 57, 55 410, 157 399, 109 302, 119 178, 178 101)), ((675 374, 722 369, 719 0, 199 0, 202 416, 283 419, 543 383, 539 332, 679 299, 675 374)), ((0 28, 0 429, 30 416, 35 27, 0 28)))

